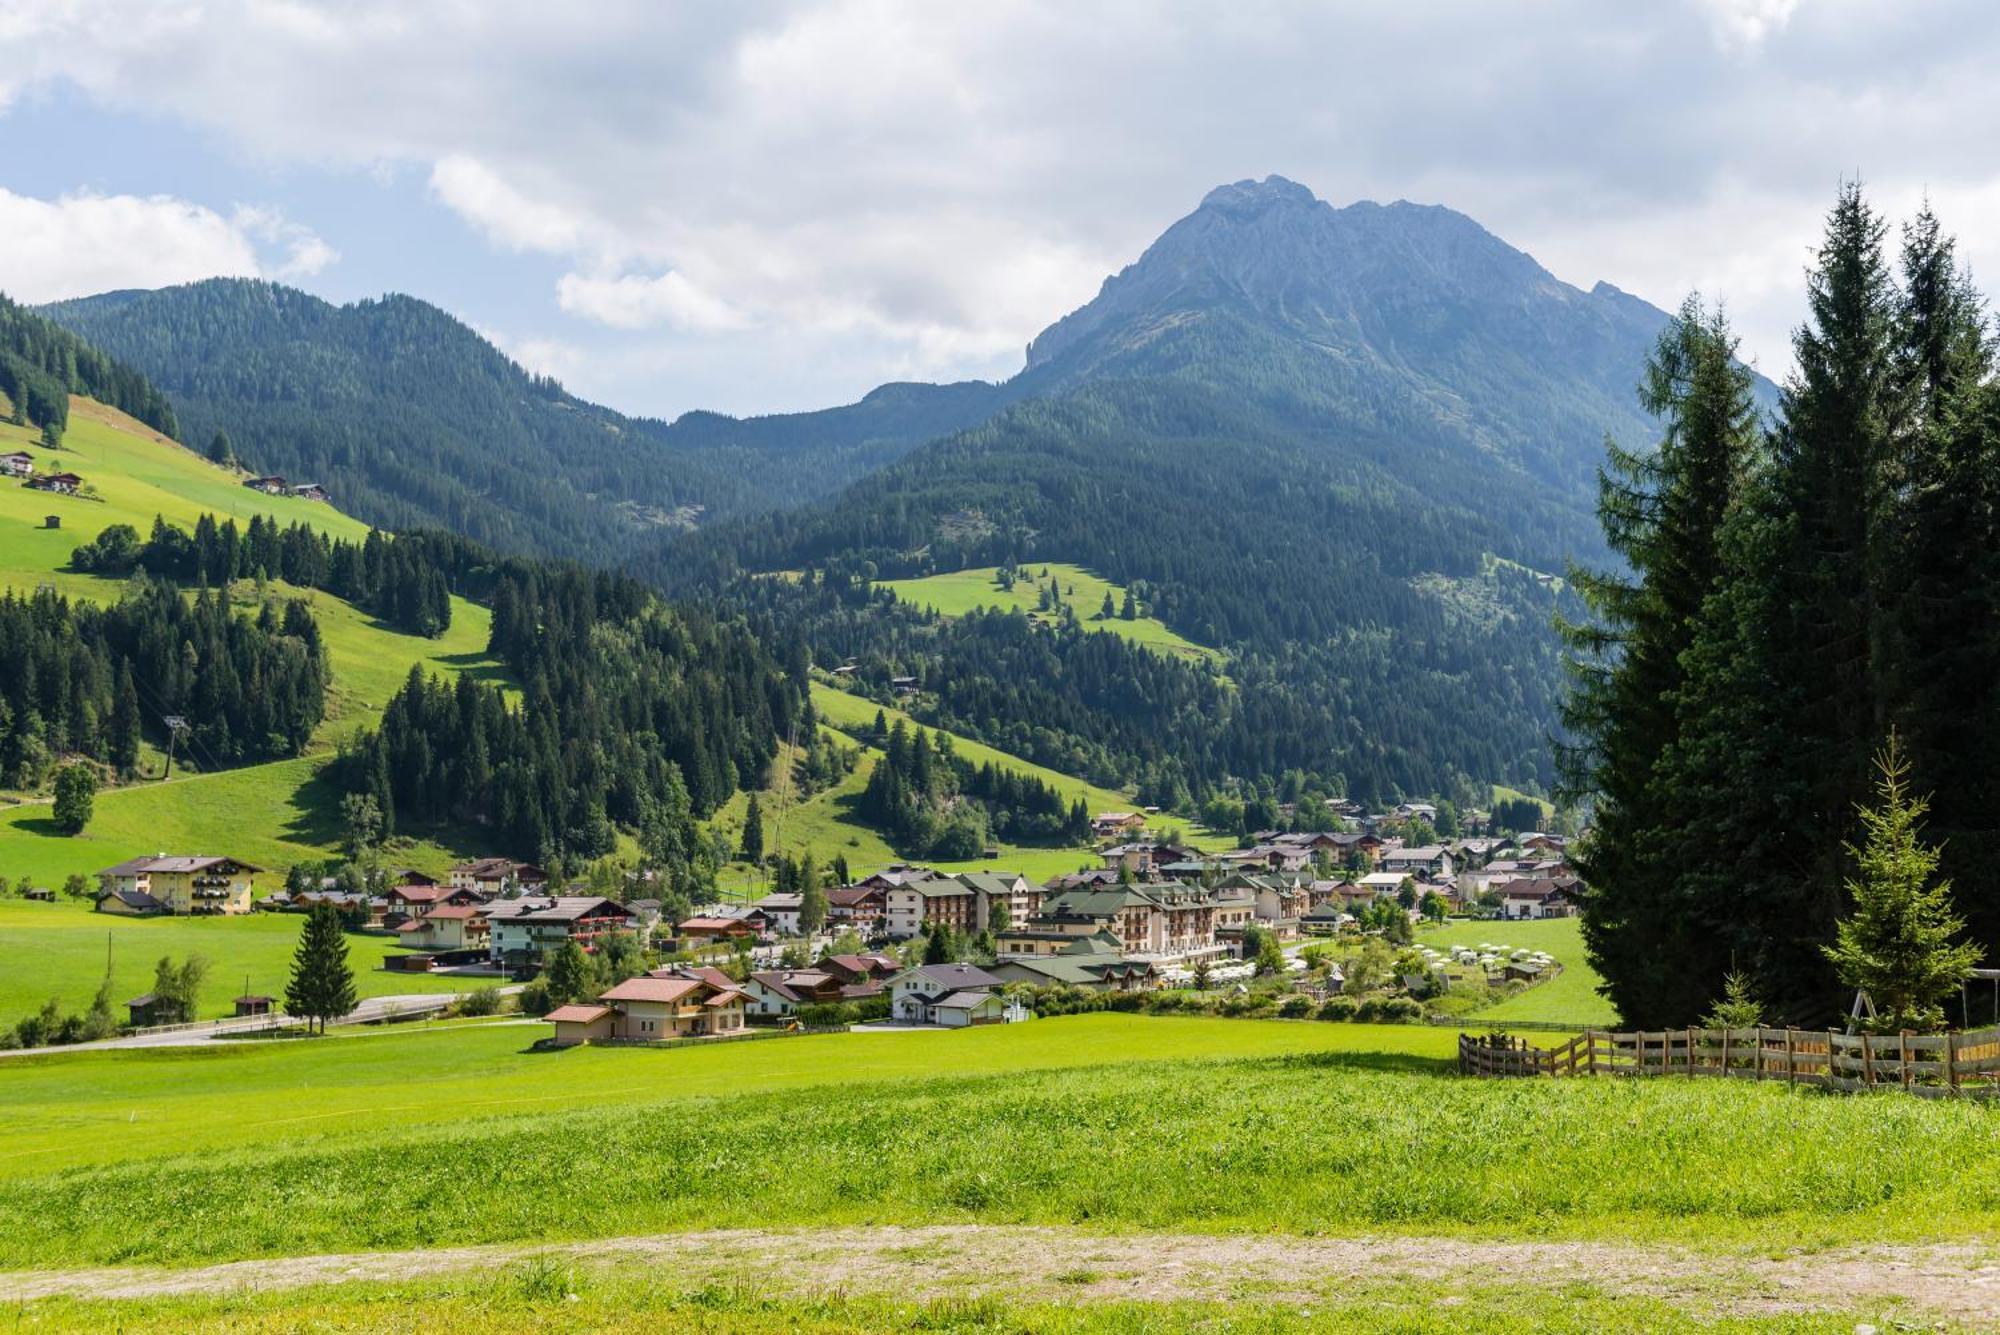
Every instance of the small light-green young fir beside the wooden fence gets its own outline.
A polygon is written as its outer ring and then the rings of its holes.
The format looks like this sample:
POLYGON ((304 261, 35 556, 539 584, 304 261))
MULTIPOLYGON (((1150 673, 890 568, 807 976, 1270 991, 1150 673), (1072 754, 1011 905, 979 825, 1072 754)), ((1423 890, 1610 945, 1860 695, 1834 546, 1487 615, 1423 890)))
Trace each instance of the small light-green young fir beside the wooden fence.
POLYGON ((1878 1033, 1944 1027, 1944 999, 1980 961, 1980 947, 1954 943, 1964 919, 1952 883, 1938 877, 1938 849, 1920 837, 1930 803, 1910 795, 1910 761, 1896 733, 1876 755, 1876 805, 1860 807, 1862 845, 1848 845, 1854 911, 1824 947, 1840 981, 1868 993, 1878 1033))

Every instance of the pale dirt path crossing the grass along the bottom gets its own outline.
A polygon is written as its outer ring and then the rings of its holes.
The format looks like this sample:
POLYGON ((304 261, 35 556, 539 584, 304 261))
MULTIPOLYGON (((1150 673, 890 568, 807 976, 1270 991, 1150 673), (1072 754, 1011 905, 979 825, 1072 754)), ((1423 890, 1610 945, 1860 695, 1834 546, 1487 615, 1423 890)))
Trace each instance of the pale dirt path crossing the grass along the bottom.
POLYGON ((998 1291, 1008 1299, 1310 1301, 1356 1283, 1588 1283, 1616 1295, 1774 1315, 1908 1303, 1958 1321, 2000 1319, 2000 1251, 1990 1245, 1866 1247, 1790 1257, 1714 1255, 1612 1243, 1492 1243, 1450 1237, 1100 1235, 946 1225, 824 1231, 728 1229, 558 1245, 442 1247, 234 1261, 196 1269, 0 1273, 0 1301, 156 1297, 410 1281, 504 1269, 528 1257, 646 1267, 720 1283, 908 1297, 998 1291), (782 1257, 782 1265, 772 1265, 782 1257))

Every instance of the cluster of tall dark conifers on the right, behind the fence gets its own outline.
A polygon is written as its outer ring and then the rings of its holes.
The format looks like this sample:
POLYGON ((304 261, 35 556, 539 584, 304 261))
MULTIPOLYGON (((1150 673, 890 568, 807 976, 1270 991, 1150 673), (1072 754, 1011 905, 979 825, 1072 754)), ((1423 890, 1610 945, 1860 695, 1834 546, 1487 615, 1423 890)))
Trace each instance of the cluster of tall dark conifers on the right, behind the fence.
POLYGON ((1690 304, 1644 384, 1658 452, 1614 448, 1618 574, 1566 628, 1568 781, 1596 795, 1584 933, 1628 1023, 1844 1011, 1824 951, 1894 733, 1974 941, 2000 939, 2000 386, 1980 294, 1926 210, 1840 192, 1798 370, 1762 426, 1726 320, 1690 304))

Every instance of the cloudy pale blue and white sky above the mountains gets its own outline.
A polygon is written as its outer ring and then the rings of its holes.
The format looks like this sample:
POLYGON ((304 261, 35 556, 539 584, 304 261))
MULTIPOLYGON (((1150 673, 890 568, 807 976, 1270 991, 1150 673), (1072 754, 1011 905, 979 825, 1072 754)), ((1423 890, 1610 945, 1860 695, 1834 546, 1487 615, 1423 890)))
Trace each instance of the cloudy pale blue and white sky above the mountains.
POLYGON ((630 414, 996 380, 1214 186, 1446 204, 1790 366, 1840 182, 2000 274, 1980 0, 0 0, 0 292, 408 292, 630 414))

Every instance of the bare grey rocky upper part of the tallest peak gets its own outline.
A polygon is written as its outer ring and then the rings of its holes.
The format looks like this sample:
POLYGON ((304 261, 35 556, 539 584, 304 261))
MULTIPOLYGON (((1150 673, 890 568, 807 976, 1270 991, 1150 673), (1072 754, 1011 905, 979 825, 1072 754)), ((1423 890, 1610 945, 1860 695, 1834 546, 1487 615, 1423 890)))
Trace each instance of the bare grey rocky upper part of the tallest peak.
POLYGON ((1026 378, 1290 396, 1320 428, 1458 438, 1578 486, 1606 430, 1650 440, 1634 388, 1664 322, 1448 208, 1334 208, 1270 176, 1212 190, 1028 346, 1026 378))

